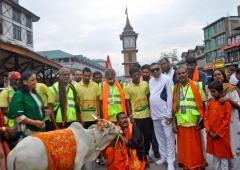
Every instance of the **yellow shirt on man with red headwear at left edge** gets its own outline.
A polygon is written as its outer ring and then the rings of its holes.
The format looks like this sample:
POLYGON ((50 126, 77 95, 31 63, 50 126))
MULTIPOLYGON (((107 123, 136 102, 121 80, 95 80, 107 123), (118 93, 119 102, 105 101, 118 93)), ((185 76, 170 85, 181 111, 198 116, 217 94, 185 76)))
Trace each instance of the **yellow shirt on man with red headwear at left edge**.
POLYGON ((0 93, 0 107, 8 108, 10 101, 12 100, 13 94, 15 93, 12 87, 4 88, 0 93))

